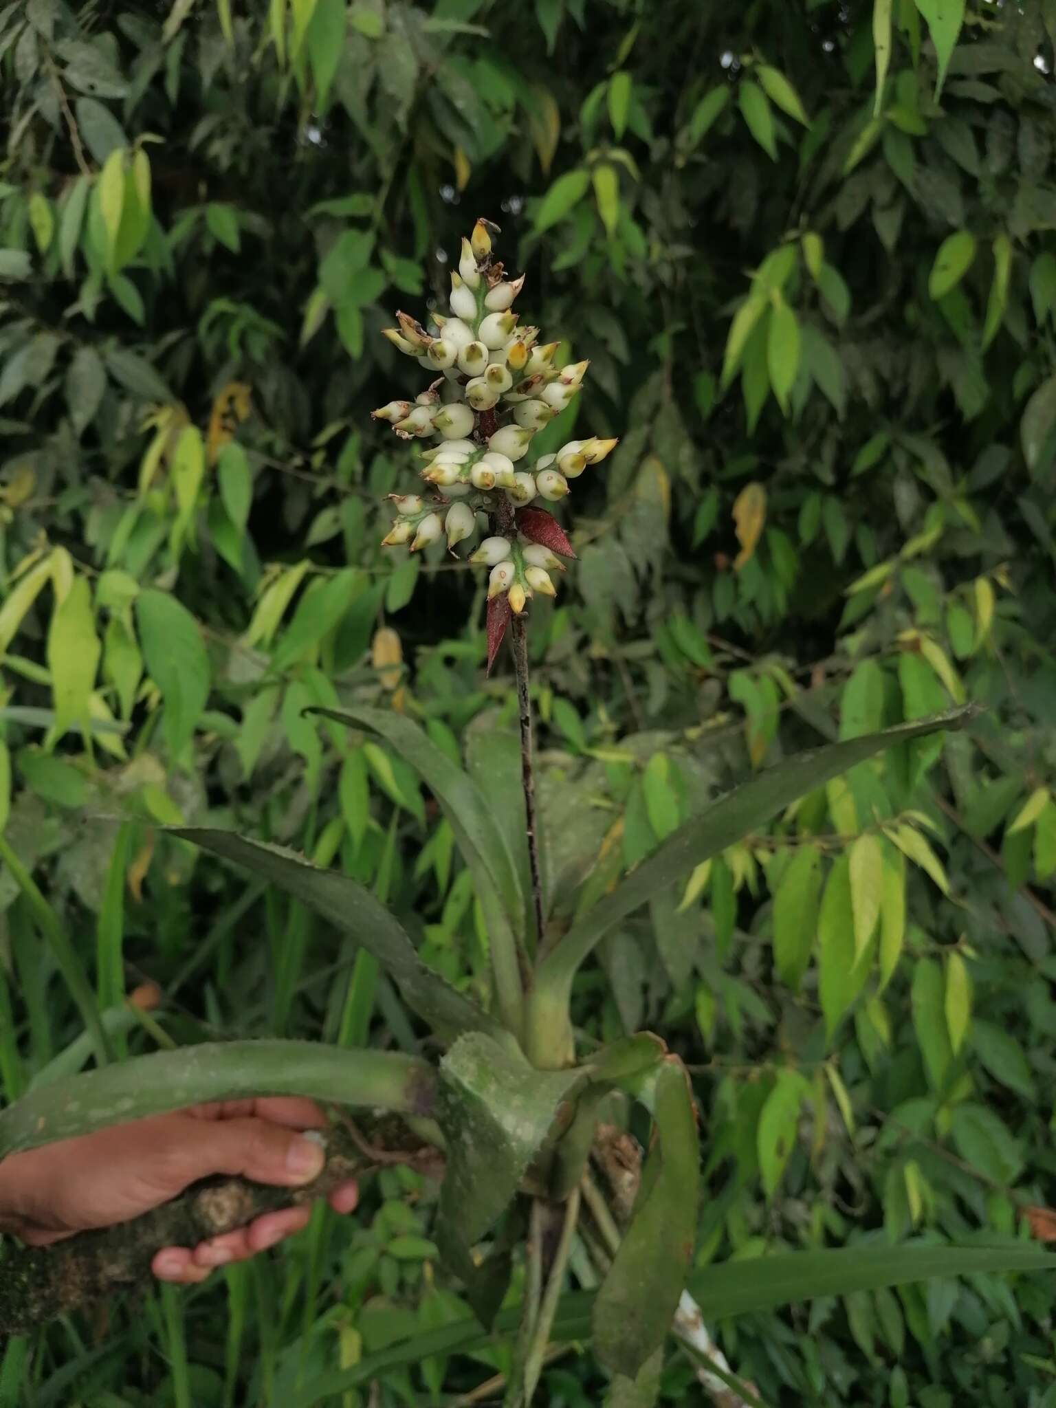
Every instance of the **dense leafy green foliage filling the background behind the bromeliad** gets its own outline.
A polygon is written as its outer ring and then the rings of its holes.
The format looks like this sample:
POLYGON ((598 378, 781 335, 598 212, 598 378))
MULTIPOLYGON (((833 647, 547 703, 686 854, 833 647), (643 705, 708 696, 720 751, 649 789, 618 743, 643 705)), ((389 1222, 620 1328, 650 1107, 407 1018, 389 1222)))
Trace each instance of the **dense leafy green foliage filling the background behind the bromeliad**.
MULTIPOLYGON (((373 960, 158 824, 344 866, 484 994, 432 801, 301 711, 400 710, 496 786, 514 700, 483 676, 482 582, 377 546, 407 462, 366 414, 407 369, 380 328, 486 214, 532 321, 591 359, 577 434, 622 436, 532 604, 558 901, 788 749, 988 710, 819 790, 579 980, 584 1042, 649 1025, 694 1071, 698 1264, 1049 1201, 1056 7, 962 8, 0 8, 0 805, 73 941, 42 942, 6 866, 7 1100, 90 1059, 77 1000, 138 1050, 417 1049, 373 960)), ((352 1232, 320 1211, 225 1286, 14 1342, 0 1401, 355 1404, 320 1376, 463 1312, 434 1201, 383 1174, 352 1232)), ((1031 1281, 719 1329, 765 1402, 1056 1404, 1031 1281)), ((456 1401, 508 1354, 370 1401, 456 1401)), ((603 1380, 566 1356, 546 1391, 603 1380)), ((705 1401, 679 1356, 666 1391, 705 1401)))

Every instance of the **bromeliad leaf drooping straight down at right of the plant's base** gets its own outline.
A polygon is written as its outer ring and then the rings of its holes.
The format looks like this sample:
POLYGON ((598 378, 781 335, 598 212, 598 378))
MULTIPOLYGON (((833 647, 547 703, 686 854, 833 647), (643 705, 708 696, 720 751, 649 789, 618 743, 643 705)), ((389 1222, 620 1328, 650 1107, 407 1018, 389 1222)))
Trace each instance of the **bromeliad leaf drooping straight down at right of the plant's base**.
POLYGON ((631 1225, 594 1302, 597 1356, 629 1378, 663 1345, 697 1236, 700 1143, 680 1062, 659 1067, 652 1104, 659 1143, 646 1160, 631 1225))

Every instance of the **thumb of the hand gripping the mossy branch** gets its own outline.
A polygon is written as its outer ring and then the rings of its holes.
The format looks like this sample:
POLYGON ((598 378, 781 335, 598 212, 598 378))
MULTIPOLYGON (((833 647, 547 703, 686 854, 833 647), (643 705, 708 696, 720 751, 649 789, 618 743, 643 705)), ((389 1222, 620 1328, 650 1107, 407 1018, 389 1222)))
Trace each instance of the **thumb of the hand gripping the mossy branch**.
POLYGON ((179 1145, 165 1162, 183 1191, 214 1173, 300 1187, 320 1176, 327 1156, 321 1145, 297 1131, 251 1117, 180 1121, 179 1145))

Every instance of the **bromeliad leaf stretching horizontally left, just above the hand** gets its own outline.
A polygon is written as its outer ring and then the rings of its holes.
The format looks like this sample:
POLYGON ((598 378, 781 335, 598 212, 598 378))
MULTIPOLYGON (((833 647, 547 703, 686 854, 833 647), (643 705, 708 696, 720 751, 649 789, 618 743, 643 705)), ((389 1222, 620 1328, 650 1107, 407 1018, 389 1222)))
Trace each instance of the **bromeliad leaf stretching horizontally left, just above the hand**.
POLYGON ((307 1095, 428 1115, 435 1090, 432 1066, 398 1052, 345 1050, 320 1042, 206 1042, 31 1090, 0 1114, 0 1159, 213 1100, 307 1095))

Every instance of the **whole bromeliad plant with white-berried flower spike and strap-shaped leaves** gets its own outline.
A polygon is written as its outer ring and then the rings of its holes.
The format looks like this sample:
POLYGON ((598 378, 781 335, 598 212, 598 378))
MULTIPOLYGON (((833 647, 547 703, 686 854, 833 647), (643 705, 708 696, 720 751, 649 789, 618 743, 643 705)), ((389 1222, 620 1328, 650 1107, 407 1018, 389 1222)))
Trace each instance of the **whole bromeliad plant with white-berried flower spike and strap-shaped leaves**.
MULTIPOLYGON (((356 704, 320 711, 380 736, 434 793, 483 908, 490 1002, 479 1007, 431 970, 394 915, 349 877, 260 841, 180 828, 175 835, 255 872, 351 935, 390 973, 444 1055, 429 1063, 262 1041, 145 1056, 30 1093, 0 1114, 0 1157, 106 1124, 245 1094, 297 1093, 365 1110, 369 1114, 356 1115, 352 1145, 335 1124, 329 1176, 370 1166, 379 1148, 386 1157, 400 1152, 420 1163, 431 1157, 434 1167, 441 1159, 436 1242, 480 1324, 446 1326, 328 1376, 325 1393, 400 1362, 472 1347, 493 1325, 510 1329, 515 1319, 520 1333, 507 1404, 532 1401, 552 1339, 590 1335, 612 1376, 611 1401, 648 1405, 659 1393, 666 1336, 681 1324, 683 1338, 691 1338, 684 1332, 687 1304, 694 1315, 701 1309, 727 1315, 925 1276, 1046 1263, 1029 1247, 921 1246, 790 1253, 777 1263, 693 1270, 701 1131, 690 1080, 649 1032, 579 1050, 570 1011, 576 974, 608 934, 696 866, 829 779, 894 743, 956 728, 967 711, 835 743, 753 776, 714 803, 701 800, 691 818, 628 874, 614 873, 605 883, 591 877, 567 908, 555 907, 538 863, 525 605, 532 593, 553 590, 551 570, 559 556, 573 552, 535 500, 563 497, 567 480, 604 459, 612 441, 573 441, 556 460, 548 456, 514 467, 528 462, 534 432, 579 393, 586 365, 558 367, 558 345, 538 346, 536 329, 520 327, 511 304, 524 280, 503 279, 493 258, 493 228, 480 221, 473 238, 463 241, 452 277, 452 317, 434 315, 434 329, 425 331, 398 314, 398 331, 387 334, 441 376, 415 403, 391 401, 375 414, 415 442, 441 436, 421 458, 432 497, 397 498, 386 541, 421 548, 446 529, 453 549, 477 527, 484 532, 472 560, 491 569, 489 666, 513 624, 522 832, 507 834, 497 818, 498 798, 489 797, 411 719, 356 704), (632 1104, 643 1107, 650 1122, 643 1166, 627 1132, 614 1135, 612 1128, 614 1119, 627 1125, 632 1104), (393 1119, 401 1133, 393 1133, 393 1119), (520 1307, 515 1315, 500 1314, 517 1266, 524 1287, 520 1307), (567 1294, 572 1267, 583 1290, 567 1294)), ((508 743, 517 749, 515 741, 508 743)), ((183 1207, 179 1215, 193 1214, 199 1222, 221 1214, 244 1218, 260 1190, 230 1183, 220 1211, 210 1190, 207 1207, 193 1193, 193 1208, 183 1207)), ((162 1209, 162 1215, 176 1214, 162 1209)), ((173 1239, 172 1222, 142 1219, 137 1226, 124 1229, 120 1243, 115 1233, 93 1233, 56 1252, 6 1260, 4 1280, 23 1295, 23 1312, 20 1318, 13 1311, 8 1295, 6 1311, 0 1305, 0 1332, 4 1324, 24 1328, 69 1308, 86 1287, 99 1294, 108 1280, 132 1278, 149 1264, 153 1246, 173 1239)))

